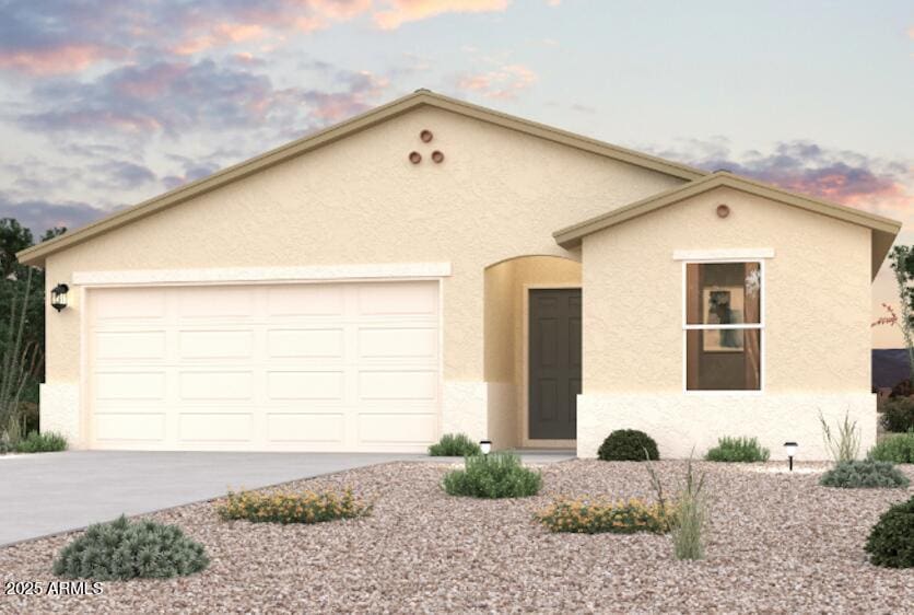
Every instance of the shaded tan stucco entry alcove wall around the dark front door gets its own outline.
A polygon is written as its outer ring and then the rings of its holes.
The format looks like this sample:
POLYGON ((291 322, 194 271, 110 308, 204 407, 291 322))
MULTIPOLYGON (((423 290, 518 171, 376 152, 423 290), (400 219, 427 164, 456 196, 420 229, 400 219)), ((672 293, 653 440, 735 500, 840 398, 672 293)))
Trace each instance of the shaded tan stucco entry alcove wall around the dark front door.
POLYGON ((525 256, 485 270, 484 378, 494 448, 573 448, 573 441, 527 438, 527 297, 530 288, 579 287, 581 264, 569 258, 525 256))

